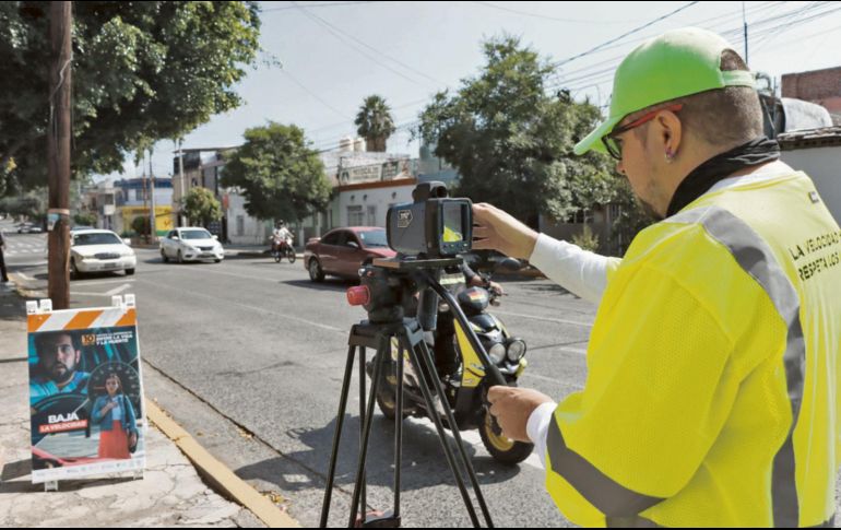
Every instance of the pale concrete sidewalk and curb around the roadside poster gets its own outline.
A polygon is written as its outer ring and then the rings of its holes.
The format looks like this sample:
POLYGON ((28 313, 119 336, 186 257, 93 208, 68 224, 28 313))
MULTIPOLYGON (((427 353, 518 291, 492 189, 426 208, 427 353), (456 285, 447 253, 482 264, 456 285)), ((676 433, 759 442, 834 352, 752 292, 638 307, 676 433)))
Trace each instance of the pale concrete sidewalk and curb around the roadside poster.
POLYGON ((3 411, 0 416, 0 527, 296 525, 233 472, 217 469, 221 464, 149 400, 146 408, 152 421, 146 431, 147 460, 143 479, 106 475, 64 481, 59 483, 58 492, 49 493, 44 491, 44 484, 33 484, 25 302, 12 286, 2 284, 0 372, 3 375, 0 378, 0 410, 3 411), (247 498, 246 503, 254 511, 208 487, 199 470, 225 495, 239 500, 247 498))

